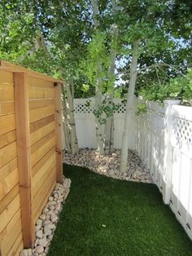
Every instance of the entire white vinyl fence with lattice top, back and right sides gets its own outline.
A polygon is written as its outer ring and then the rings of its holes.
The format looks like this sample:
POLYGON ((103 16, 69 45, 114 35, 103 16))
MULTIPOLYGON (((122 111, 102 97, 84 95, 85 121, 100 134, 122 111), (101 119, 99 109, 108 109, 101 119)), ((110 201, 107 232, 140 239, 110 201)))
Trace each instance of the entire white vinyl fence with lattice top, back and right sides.
MULTIPOLYGON (((134 113, 138 99, 134 101, 134 113)), ((121 148, 125 106, 115 113, 115 148, 121 148)), ((75 99, 76 133, 80 148, 97 148, 94 99, 75 99), (89 106, 87 101, 89 100, 89 106)), ((192 239, 192 108, 167 101, 164 106, 147 103, 147 112, 133 114, 130 124, 131 149, 151 172, 185 231, 192 239)))

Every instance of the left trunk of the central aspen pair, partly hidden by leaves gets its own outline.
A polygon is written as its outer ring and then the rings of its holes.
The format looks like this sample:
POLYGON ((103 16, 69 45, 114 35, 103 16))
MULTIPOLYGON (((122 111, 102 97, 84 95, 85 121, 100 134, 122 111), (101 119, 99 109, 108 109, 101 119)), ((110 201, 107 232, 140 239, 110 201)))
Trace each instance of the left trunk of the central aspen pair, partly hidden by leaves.
MULTIPOLYGON (((92 10, 94 13, 94 26, 97 29, 99 25, 99 21, 97 15, 98 11, 98 0, 91 0, 92 10)), ((98 77, 95 85, 95 108, 96 111, 102 103, 102 94, 101 94, 101 86, 102 86, 102 78, 100 77, 102 73, 102 64, 98 60, 98 77)), ((104 155, 104 135, 103 135, 103 126, 99 123, 98 117, 95 117, 96 124, 96 138, 98 143, 98 152, 101 155, 104 155)))

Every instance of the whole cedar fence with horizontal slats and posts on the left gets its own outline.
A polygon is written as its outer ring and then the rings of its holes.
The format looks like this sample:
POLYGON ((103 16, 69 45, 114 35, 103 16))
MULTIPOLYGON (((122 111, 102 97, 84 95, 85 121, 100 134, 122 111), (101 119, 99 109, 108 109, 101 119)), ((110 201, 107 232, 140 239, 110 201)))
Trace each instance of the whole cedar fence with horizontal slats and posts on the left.
POLYGON ((63 181, 61 81, 0 62, 0 255, 33 247, 35 223, 63 181))

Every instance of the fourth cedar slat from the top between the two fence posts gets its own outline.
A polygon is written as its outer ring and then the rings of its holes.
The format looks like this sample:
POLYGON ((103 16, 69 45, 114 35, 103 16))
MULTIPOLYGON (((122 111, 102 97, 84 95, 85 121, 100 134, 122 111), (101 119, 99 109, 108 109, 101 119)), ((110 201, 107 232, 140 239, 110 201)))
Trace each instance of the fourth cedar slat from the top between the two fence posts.
POLYGON ((42 118, 51 116, 55 113, 55 107, 49 106, 45 108, 35 108, 29 110, 29 122, 32 123, 34 121, 40 120, 42 118))

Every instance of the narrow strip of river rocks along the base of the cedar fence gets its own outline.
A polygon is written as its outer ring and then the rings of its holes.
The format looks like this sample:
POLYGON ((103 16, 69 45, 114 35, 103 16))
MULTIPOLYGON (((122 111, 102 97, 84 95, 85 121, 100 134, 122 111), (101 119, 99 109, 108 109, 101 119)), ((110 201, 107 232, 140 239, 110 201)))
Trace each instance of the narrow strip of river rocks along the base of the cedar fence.
POLYGON ((37 219, 35 226, 36 240, 33 249, 23 249, 20 256, 46 256, 50 241, 53 238, 59 213, 62 210, 70 190, 71 180, 64 179, 63 184, 56 183, 41 216, 37 219))

